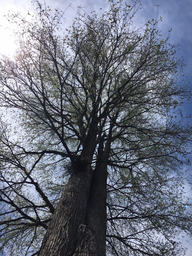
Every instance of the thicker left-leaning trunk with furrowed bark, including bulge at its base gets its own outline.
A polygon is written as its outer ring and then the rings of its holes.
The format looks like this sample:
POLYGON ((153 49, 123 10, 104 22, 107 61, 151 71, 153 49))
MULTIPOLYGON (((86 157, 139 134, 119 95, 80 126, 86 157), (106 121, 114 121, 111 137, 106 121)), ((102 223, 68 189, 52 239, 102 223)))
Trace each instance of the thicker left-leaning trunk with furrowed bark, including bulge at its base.
POLYGON ((96 135, 91 130, 81 161, 63 189, 52 221, 42 241, 39 256, 98 256, 92 231, 85 226, 93 170, 96 135), (81 165, 83 163, 83 165, 81 165))

